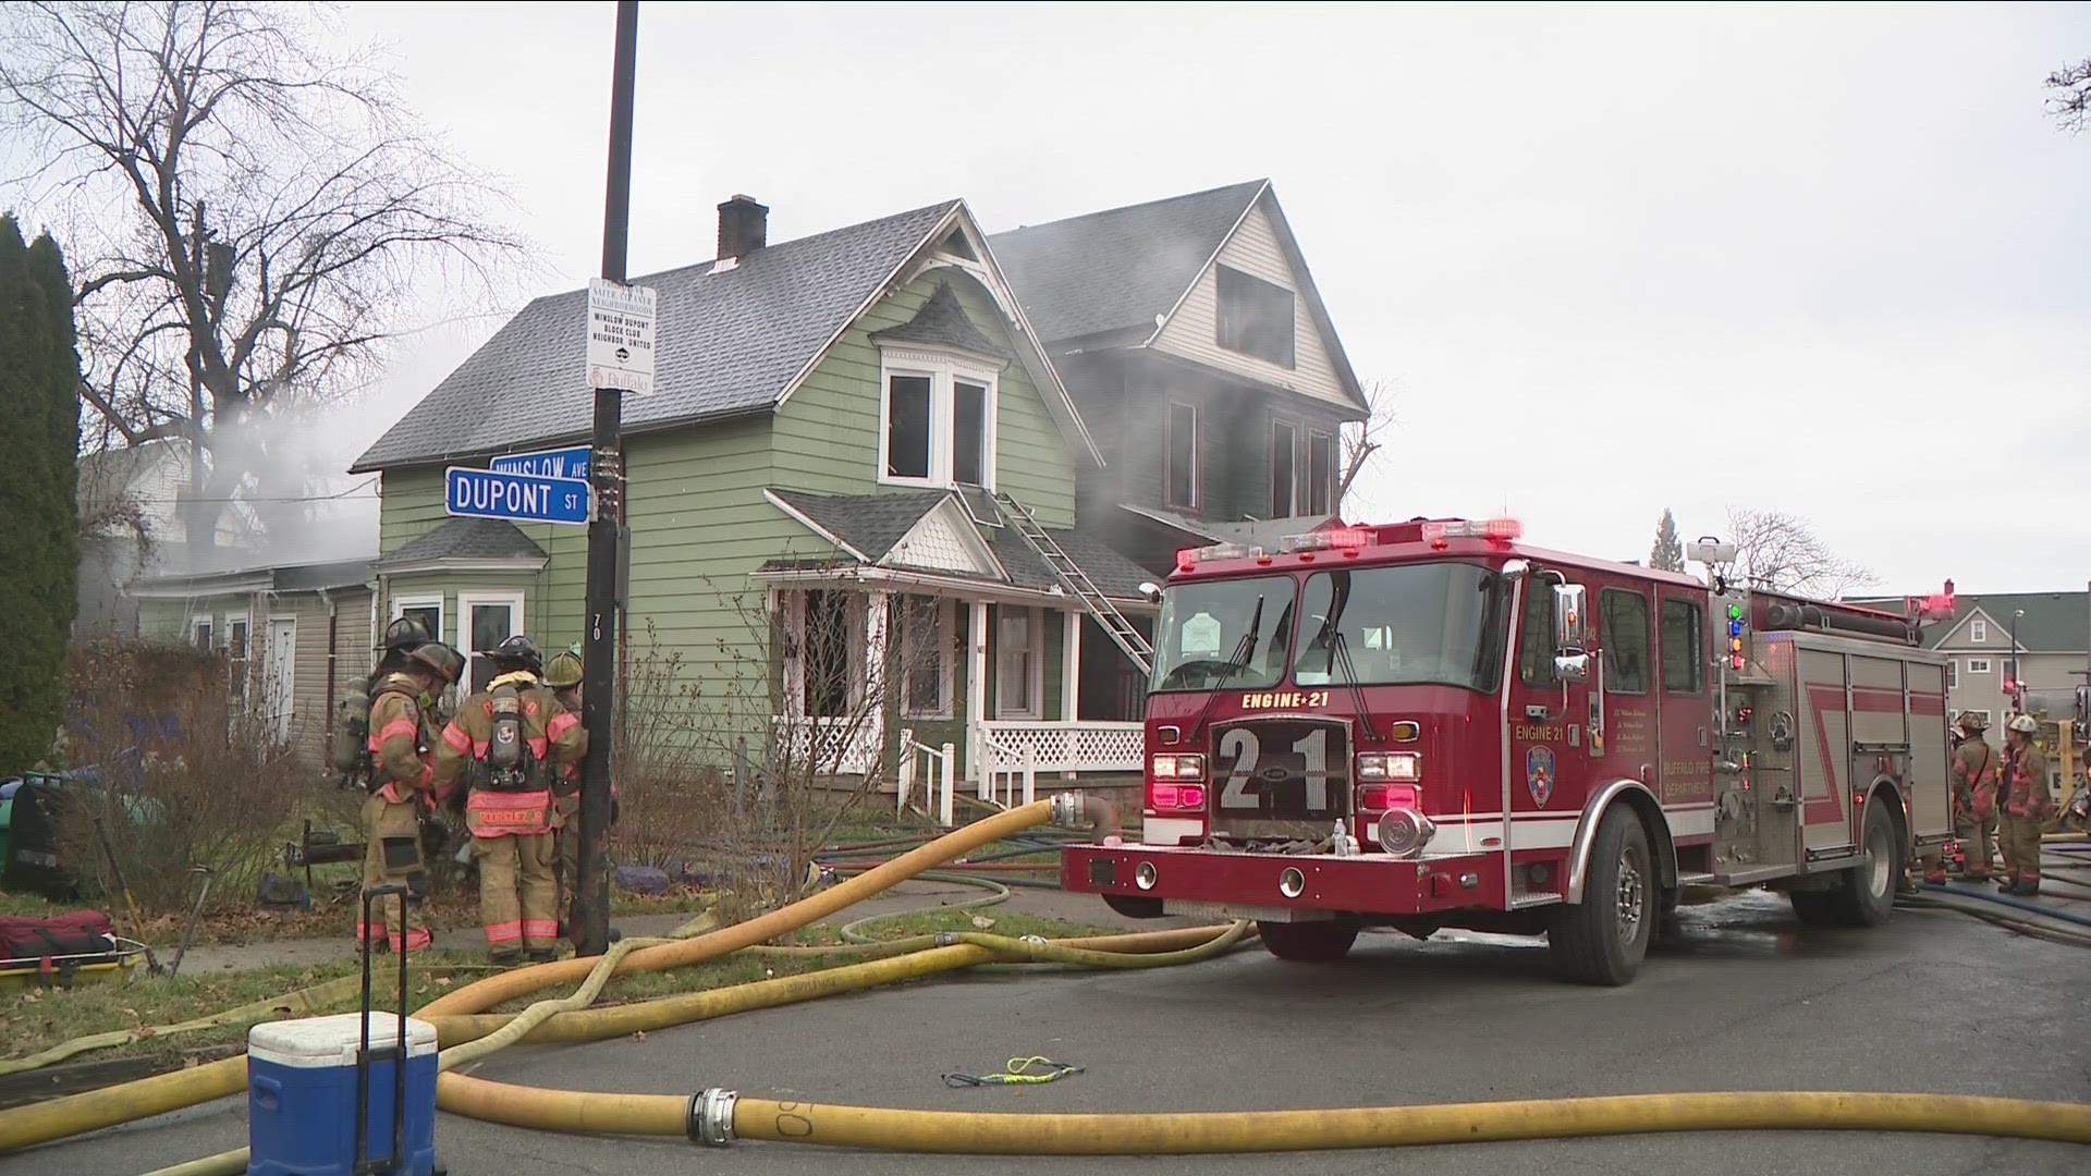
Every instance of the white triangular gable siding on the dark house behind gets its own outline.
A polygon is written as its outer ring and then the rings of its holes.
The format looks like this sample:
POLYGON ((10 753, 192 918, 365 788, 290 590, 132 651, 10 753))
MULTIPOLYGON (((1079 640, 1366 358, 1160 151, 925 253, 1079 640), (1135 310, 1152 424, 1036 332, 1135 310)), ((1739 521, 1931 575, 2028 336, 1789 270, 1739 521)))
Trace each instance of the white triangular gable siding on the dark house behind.
POLYGON ((1184 299, 1184 306, 1163 326, 1163 333, 1154 339, 1154 347, 1225 372, 1355 408, 1336 379, 1336 366, 1330 362, 1322 333, 1315 331, 1313 316, 1307 312, 1307 299, 1299 293, 1301 280, 1278 245, 1269 201, 1271 197, 1265 193, 1250 207, 1242 224, 1227 236, 1227 243, 1219 247, 1217 262, 1230 270, 1240 270, 1292 291, 1292 366, 1286 368, 1219 345, 1219 276, 1213 266, 1207 266, 1198 274, 1190 297, 1184 299))

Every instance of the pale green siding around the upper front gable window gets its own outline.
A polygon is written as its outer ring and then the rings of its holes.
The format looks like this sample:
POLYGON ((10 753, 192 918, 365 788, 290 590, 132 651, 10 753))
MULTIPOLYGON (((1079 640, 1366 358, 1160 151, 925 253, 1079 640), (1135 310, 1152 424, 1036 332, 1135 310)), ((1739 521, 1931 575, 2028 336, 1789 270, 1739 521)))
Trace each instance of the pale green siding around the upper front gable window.
MULTIPOLYGON (((930 270, 910 280, 864 312, 776 412, 776 485, 811 494, 887 490, 878 485, 882 389, 870 337, 914 318, 939 282, 951 285, 983 335, 1014 352, 999 308, 970 276, 930 270)), ((1037 511, 1048 527, 1075 525, 1075 454, 1016 360, 995 381, 995 488, 1037 511)))

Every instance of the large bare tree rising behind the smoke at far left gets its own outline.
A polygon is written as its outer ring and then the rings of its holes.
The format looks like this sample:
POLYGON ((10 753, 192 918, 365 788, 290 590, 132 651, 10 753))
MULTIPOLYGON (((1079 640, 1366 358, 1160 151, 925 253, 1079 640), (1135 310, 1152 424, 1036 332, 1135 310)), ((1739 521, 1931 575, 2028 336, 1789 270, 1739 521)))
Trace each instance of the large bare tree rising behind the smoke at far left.
POLYGON ((320 48, 330 31, 245 0, 0 13, 0 128, 31 153, 15 186, 67 213, 77 259, 88 433, 188 444, 192 548, 255 496, 251 435, 364 385, 418 278, 491 293, 523 247, 368 52, 320 48))

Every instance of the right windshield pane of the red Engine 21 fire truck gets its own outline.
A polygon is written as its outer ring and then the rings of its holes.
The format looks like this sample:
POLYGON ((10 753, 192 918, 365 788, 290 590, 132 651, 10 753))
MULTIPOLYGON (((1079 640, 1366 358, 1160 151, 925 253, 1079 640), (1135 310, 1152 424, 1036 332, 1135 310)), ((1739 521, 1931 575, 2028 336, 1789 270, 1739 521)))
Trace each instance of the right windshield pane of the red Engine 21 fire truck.
POLYGON ((1493 693, 1503 674, 1506 592, 1478 563, 1315 571, 1301 594, 1301 686, 1441 682, 1493 693), (1342 657, 1349 653, 1349 657, 1342 657))

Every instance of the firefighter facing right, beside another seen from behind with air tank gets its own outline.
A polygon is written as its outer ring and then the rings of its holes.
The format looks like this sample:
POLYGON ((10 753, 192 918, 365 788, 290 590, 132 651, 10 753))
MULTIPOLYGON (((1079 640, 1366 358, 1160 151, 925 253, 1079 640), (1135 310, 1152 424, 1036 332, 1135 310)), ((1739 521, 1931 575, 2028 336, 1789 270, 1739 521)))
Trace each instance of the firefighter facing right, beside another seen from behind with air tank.
POLYGON ((422 642, 408 653, 391 651, 378 663, 370 699, 370 799, 364 801, 364 885, 408 887, 408 902, 385 896, 372 906, 376 923, 358 925, 355 937, 385 950, 412 952, 429 946, 429 923, 420 900, 429 894, 429 873, 420 860, 420 814, 429 808, 435 770, 422 699, 450 682, 456 653, 422 642), (383 937, 381 937, 383 935, 383 937))

